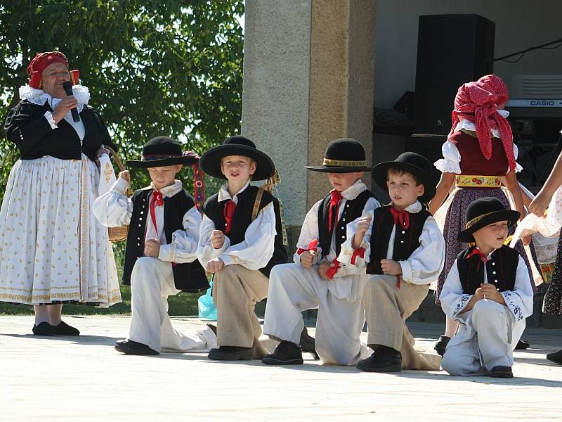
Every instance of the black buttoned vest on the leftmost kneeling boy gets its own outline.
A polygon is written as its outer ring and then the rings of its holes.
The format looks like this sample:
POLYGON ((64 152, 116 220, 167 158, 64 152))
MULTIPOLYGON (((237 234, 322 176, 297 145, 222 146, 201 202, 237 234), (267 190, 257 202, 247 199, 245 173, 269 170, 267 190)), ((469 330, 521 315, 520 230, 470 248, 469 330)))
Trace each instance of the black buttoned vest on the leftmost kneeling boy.
MULTIPOLYGON (((125 248, 123 284, 131 284, 131 272, 138 258, 144 256, 146 220, 150 218, 148 197, 152 189, 139 189, 133 194, 133 215, 129 224, 129 234, 125 248)), ((182 189, 171 198, 164 198, 164 233, 166 241, 176 230, 183 230, 183 216, 195 205, 192 196, 182 189)), ((209 288, 207 276, 198 260, 174 264, 174 284, 178 290, 195 293, 209 288)))

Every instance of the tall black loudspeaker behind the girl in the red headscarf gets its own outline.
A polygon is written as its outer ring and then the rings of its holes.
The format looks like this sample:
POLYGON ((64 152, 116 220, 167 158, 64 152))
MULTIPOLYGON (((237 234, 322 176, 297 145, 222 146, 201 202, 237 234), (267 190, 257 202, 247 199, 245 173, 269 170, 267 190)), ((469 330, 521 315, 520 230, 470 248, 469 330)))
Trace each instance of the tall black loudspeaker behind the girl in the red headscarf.
POLYGON ((419 17, 414 134, 447 134, 457 89, 493 71, 495 23, 479 15, 419 17))

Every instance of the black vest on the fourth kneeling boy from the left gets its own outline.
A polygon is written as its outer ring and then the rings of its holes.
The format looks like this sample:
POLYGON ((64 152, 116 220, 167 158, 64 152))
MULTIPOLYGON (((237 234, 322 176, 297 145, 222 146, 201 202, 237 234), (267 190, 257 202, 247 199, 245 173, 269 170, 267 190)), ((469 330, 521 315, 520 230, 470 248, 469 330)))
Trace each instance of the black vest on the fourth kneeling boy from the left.
MULTIPOLYGON (((391 207, 392 205, 385 205, 374 210, 371 258, 369 264, 367 264, 367 274, 383 274, 381 260, 386 259, 388 242, 391 239, 394 227, 391 207)), ((421 236, 421 232, 424 230, 427 217, 431 214, 426 210, 421 210, 419 212, 408 212, 408 215, 410 217, 410 226, 407 229, 404 229, 400 224, 396 224, 394 248, 392 251, 392 260, 396 262, 407 260, 412 255, 412 252, 419 248, 419 236, 421 236)))

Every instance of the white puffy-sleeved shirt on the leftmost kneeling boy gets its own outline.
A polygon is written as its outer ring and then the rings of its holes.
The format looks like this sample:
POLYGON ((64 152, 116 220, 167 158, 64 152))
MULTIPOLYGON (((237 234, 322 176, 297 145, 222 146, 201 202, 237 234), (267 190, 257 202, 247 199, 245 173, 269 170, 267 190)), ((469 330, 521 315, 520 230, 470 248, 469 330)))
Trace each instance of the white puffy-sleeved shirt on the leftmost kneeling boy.
MULTIPOLYGON (((93 214, 98 221, 106 227, 124 226, 131 222, 133 214, 133 201, 125 193, 129 188, 129 183, 125 179, 119 178, 112 186, 110 191, 96 198, 93 203, 93 214)), ((150 184, 147 189, 154 189, 150 184)), ((176 180, 171 186, 160 189, 164 198, 171 198, 182 190, 181 181, 176 180)), ((152 193, 148 196, 150 201, 152 193)), ((201 225, 201 213, 197 207, 193 206, 183 215, 183 230, 176 230, 172 234, 171 243, 167 243, 164 231, 164 207, 155 207, 156 226, 152 223, 150 215, 146 216, 145 241, 148 238, 155 238, 160 242, 159 260, 166 262, 176 262, 183 264, 193 262, 196 259, 197 243, 199 242, 199 231, 201 225)))

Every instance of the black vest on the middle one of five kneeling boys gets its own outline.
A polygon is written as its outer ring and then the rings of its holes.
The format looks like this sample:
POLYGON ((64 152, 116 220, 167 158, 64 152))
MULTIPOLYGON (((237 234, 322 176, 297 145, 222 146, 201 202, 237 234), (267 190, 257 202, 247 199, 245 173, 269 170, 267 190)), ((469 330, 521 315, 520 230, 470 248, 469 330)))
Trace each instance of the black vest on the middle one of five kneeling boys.
MULTIPOLYGON (((347 238, 346 225, 348 222, 353 222, 354 219, 361 217, 363 208, 365 208, 369 198, 374 198, 371 191, 362 191, 355 199, 346 200, 344 210, 341 212, 338 222, 332 227, 332 231, 328 231, 330 194, 324 198, 320 207, 318 207, 318 243, 322 248, 322 257, 329 254, 334 230, 336 231, 336 255, 339 255, 341 243, 344 243, 347 238)), ((335 219, 336 216, 332 216, 332 218, 335 219)))

